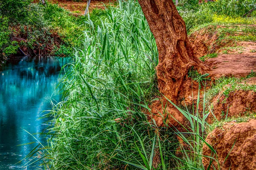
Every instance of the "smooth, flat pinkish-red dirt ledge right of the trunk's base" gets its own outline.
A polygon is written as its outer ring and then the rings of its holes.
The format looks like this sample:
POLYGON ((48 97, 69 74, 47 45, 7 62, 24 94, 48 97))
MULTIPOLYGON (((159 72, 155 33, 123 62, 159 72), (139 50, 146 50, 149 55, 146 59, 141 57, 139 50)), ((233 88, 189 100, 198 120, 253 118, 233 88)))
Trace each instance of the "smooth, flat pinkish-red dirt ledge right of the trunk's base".
POLYGON ((223 54, 217 58, 205 61, 211 71, 208 73, 213 79, 223 76, 246 77, 251 71, 256 71, 256 54, 223 54))

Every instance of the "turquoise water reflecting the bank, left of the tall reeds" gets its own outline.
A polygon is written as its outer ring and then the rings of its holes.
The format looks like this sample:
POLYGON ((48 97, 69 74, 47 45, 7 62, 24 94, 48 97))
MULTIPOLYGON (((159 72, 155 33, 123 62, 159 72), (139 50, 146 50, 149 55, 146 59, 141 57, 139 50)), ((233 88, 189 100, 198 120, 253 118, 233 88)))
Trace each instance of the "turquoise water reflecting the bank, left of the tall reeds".
POLYGON ((23 167, 28 160, 17 162, 35 147, 26 143, 37 142, 35 138, 45 142, 36 133, 49 125, 47 119, 38 118, 47 113, 42 111, 52 108, 50 99, 61 100, 56 87, 61 67, 68 60, 24 57, 7 63, 0 71, 0 170, 41 169, 38 164, 23 167))

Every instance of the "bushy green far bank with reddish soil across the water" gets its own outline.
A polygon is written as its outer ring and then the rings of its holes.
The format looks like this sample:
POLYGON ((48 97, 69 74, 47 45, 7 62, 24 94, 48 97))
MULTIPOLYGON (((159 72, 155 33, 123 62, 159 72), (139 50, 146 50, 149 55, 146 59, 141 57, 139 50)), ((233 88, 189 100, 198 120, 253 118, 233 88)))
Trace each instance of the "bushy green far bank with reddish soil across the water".
MULTIPOLYGON (((0 12, 0 60, 4 62, 12 56, 70 56, 77 48, 88 17, 74 15, 51 1, 44 6, 31 0, 11 1, 1 5, 0 12)), ((106 15, 102 9, 90 10, 90 20, 97 22, 98 17, 106 15)))

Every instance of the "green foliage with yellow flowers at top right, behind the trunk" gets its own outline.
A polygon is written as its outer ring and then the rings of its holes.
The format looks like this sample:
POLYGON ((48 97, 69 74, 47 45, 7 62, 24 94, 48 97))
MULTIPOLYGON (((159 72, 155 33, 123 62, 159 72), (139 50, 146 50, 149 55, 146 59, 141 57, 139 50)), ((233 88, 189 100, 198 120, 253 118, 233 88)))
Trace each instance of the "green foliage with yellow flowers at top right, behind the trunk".
POLYGON ((256 7, 255 0, 217 0, 198 5, 186 3, 186 6, 177 9, 186 23, 188 33, 208 25, 241 25, 254 24, 256 11, 250 13, 251 18, 243 15, 256 7))

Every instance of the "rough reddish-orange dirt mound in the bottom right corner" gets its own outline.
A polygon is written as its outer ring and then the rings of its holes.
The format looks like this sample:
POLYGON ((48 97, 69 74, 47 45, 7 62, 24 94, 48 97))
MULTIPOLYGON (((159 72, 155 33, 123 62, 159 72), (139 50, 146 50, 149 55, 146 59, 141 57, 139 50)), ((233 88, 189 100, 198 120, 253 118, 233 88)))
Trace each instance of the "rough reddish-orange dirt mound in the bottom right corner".
MULTIPOLYGON (((204 144, 203 155, 211 156, 218 160, 221 170, 256 170, 256 120, 244 123, 228 123, 218 127, 207 136, 206 142, 216 151, 213 155, 209 147, 204 144), (212 156, 213 155, 213 156, 212 156)), ((204 157, 205 169, 212 161, 213 166, 218 170, 216 161, 204 157)))

